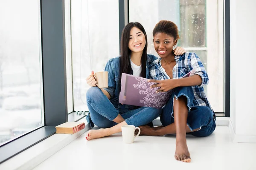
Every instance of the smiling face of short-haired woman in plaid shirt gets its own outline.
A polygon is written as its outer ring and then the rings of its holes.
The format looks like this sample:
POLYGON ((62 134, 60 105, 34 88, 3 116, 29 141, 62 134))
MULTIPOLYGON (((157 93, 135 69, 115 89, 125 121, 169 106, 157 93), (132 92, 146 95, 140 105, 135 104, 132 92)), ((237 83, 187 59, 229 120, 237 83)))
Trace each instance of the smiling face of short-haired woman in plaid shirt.
POLYGON ((160 32, 154 35, 154 48, 161 58, 172 56, 173 46, 176 44, 177 40, 168 34, 160 32))

